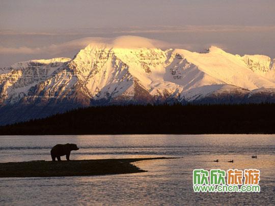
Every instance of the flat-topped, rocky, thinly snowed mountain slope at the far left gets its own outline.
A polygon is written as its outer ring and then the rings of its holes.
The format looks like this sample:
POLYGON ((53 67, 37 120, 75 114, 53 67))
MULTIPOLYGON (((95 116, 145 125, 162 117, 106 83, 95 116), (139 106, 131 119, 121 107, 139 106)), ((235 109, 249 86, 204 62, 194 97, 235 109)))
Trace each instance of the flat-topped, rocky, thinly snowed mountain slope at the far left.
POLYGON ((28 95, 32 86, 45 81, 70 58, 31 60, 0 69, 0 103, 15 103, 28 95))

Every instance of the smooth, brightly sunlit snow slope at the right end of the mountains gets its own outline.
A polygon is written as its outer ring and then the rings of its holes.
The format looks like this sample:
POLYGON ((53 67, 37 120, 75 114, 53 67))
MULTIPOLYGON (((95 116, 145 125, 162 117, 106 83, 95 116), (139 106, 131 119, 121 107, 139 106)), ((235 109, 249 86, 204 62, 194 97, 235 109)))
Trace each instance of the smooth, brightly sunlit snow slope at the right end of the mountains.
POLYGON ((258 74, 259 72, 263 73, 262 70, 252 69, 251 65, 245 64, 244 57, 227 53, 217 47, 211 47, 209 53, 196 53, 181 49, 177 49, 176 52, 186 58, 188 62, 197 65, 204 73, 226 84, 248 90, 260 87, 274 88, 275 86, 273 82, 258 74))

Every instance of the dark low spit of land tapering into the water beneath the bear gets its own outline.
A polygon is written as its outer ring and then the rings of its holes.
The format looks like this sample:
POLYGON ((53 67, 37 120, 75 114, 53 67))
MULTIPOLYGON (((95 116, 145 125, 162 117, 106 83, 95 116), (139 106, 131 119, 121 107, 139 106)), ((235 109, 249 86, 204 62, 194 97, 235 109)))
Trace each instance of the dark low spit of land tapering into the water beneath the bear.
POLYGON ((131 164, 143 160, 177 159, 175 157, 97 159, 70 161, 30 161, 0 163, 0 178, 41 178, 58 176, 93 176, 146 172, 131 164))

